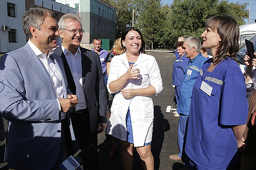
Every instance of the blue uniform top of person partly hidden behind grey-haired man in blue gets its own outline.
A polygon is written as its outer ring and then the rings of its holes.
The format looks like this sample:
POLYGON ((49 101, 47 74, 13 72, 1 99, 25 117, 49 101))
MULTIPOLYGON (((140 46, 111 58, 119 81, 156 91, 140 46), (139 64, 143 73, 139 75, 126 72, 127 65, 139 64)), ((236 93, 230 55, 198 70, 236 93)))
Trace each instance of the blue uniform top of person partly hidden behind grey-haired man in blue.
POLYGON ((180 86, 181 80, 184 77, 184 74, 188 67, 188 60, 186 58, 186 54, 184 54, 181 58, 178 58, 173 63, 173 85, 180 86))

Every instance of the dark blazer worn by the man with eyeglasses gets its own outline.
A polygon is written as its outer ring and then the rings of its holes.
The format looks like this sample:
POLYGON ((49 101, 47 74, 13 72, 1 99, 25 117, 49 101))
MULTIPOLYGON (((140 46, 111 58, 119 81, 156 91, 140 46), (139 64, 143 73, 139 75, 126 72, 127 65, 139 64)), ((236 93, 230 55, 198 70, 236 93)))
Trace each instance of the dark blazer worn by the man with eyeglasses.
MULTIPOLYGON (((98 54, 83 47, 80 47, 80 50, 82 55, 83 91, 90 115, 90 133, 93 134, 97 130, 98 123, 107 122, 105 85, 98 54)), ((75 82, 61 47, 54 50, 54 53, 60 55, 63 59, 68 87, 73 94, 76 94, 75 82)))

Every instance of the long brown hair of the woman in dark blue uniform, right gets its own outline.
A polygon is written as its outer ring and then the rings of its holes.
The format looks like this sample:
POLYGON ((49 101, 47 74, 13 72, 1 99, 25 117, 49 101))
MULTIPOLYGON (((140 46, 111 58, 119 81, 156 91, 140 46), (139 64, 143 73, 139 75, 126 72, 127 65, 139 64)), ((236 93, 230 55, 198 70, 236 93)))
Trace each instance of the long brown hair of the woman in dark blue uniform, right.
POLYGON ((215 33, 217 32, 221 38, 215 51, 214 64, 218 64, 228 56, 237 60, 239 25, 236 20, 231 15, 216 15, 207 19, 206 27, 211 28, 215 33))

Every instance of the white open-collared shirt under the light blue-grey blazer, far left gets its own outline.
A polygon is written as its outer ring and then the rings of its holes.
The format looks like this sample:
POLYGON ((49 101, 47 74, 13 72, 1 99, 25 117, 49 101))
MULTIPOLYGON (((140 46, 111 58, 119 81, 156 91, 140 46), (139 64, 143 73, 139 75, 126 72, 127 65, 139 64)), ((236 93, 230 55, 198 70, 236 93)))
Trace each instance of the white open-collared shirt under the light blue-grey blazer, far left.
MULTIPOLYGON (((63 96, 63 87, 62 87, 62 79, 60 75, 60 70, 54 63, 53 59, 50 57, 51 54, 54 53, 54 51, 49 50, 48 54, 43 54, 42 51, 38 49, 30 40, 28 40, 29 46, 32 48, 36 56, 41 60, 43 65, 45 66, 45 69, 49 73, 51 83, 53 85, 53 90, 55 92, 55 96, 57 98, 58 104, 59 104, 59 110, 61 109, 60 107, 60 101, 58 100, 59 98, 64 98, 63 96)), ((61 112, 61 119, 66 118, 66 113, 61 112)))

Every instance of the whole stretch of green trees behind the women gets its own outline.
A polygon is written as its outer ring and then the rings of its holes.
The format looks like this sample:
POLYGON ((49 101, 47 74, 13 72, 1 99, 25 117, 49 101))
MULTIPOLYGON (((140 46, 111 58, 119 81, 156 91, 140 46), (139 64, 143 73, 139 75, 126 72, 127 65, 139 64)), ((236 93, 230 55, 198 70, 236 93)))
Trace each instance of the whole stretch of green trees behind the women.
POLYGON ((248 18, 248 4, 229 3, 227 0, 173 0, 163 6, 161 0, 106 0, 117 7, 116 37, 132 25, 132 9, 135 10, 134 25, 141 30, 147 49, 175 47, 179 36, 200 38, 205 22, 219 14, 230 14, 239 25, 248 18))

